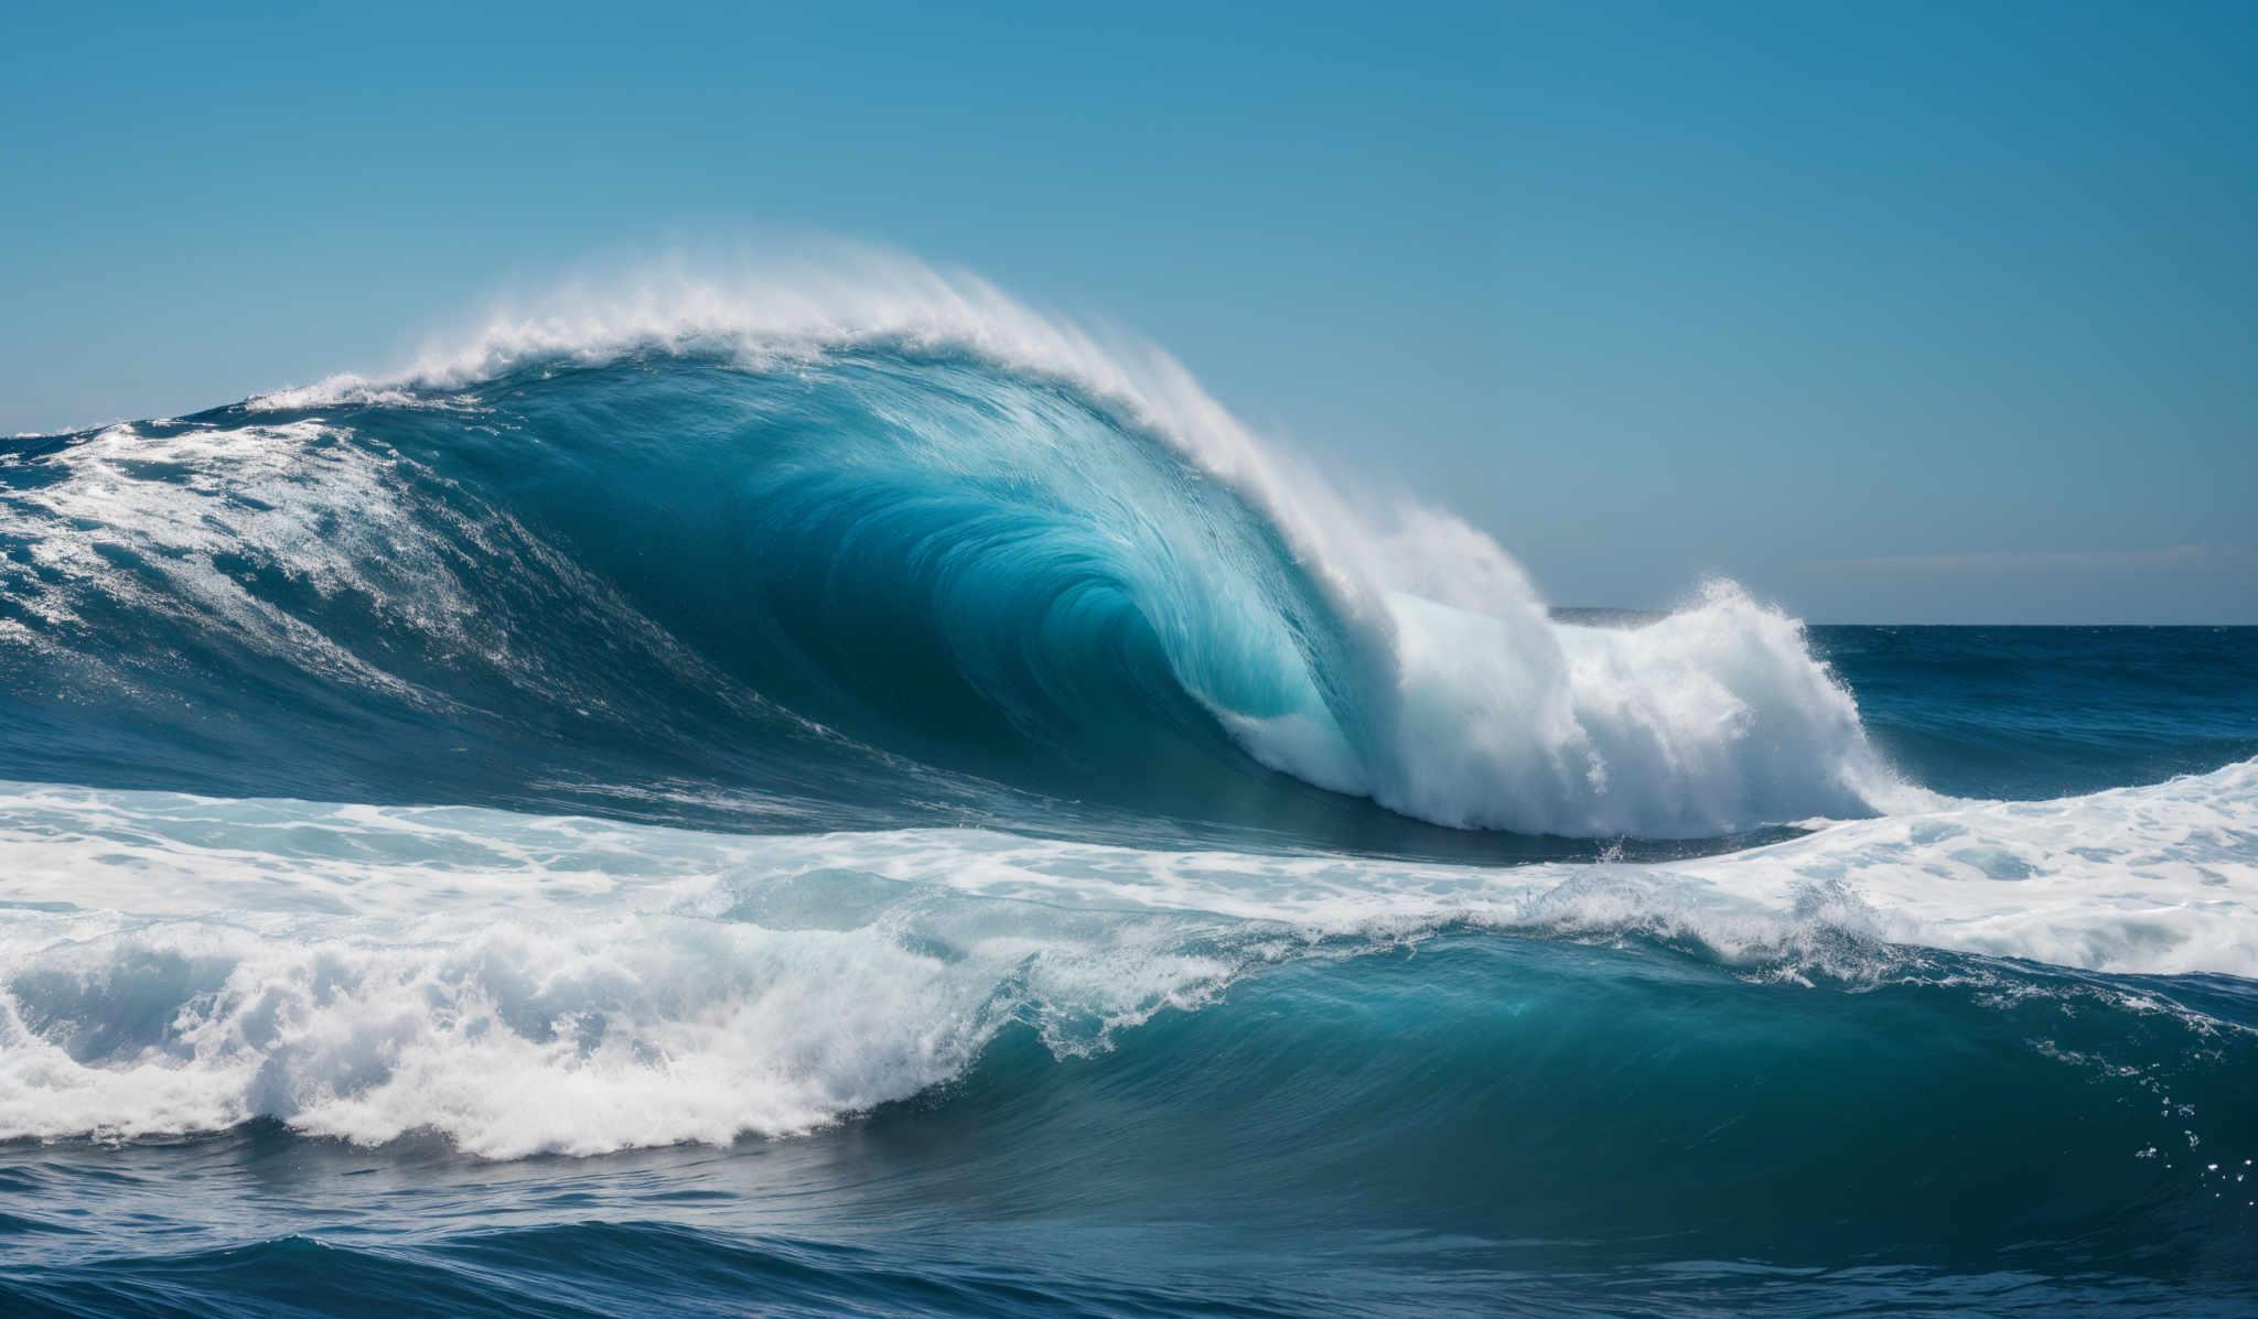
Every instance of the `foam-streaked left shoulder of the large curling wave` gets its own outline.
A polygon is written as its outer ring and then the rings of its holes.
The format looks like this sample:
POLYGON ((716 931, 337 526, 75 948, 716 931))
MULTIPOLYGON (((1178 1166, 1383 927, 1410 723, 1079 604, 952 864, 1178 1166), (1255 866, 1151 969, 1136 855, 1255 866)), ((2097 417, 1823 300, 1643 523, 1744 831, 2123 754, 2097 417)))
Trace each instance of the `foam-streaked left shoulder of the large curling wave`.
MULTIPOLYGON (((0 619, 0 646, 63 657, 77 684, 163 689, 174 653, 120 644, 158 628, 120 635, 117 623, 88 621, 126 614, 431 711, 454 709, 447 691, 393 673, 373 646, 355 648, 298 617, 266 589, 271 574, 413 635, 420 664, 476 669, 580 709, 610 705, 616 691, 551 662, 542 639, 497 623, 495 592, 540 574, 601 617, 607 641, 727 691, 702 660, 506 510, 364 445, 348 427, 316 418, 117 425, 43 463, 50 479, 0 490, 0 538, 20 540, 38 569, 9 571, 0 560, 0 589, 41 623, 0 619), (436 488, 454 499, 434 497, 436 488), (506 578, 497 565, 508 565, 506 578)), ((574 626, 564 610, 549 617, 574 626)))

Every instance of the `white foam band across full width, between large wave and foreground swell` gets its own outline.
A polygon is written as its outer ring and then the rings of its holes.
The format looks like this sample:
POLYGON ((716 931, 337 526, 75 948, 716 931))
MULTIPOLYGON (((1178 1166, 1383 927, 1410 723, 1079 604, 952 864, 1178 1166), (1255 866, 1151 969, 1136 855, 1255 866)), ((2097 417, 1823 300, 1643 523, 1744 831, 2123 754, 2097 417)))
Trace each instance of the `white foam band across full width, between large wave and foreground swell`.
POLYGON ((0 786, 0 1138, 273 1116, 515 1156, 802 1132, 1007 1019, 1102 1048, 1253 964, 1450 926, 1786 978, 1890 944, 2258 976, 2258 761, 1508 870, 0 786))

